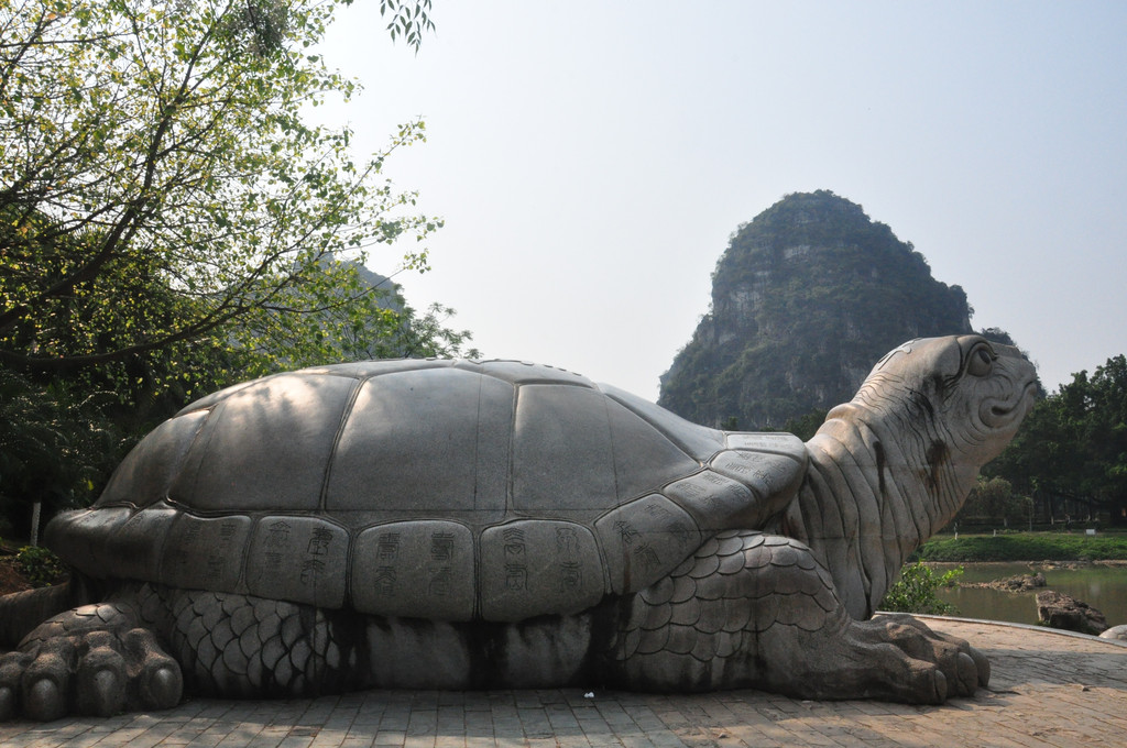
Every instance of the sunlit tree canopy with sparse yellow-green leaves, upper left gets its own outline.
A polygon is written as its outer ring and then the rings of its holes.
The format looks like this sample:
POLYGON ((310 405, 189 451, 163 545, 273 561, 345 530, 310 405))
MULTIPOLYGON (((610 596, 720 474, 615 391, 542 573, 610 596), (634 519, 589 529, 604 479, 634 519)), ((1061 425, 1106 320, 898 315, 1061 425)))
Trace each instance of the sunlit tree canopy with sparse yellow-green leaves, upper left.
MULTIPOLYGON (((254 374, 331 356, 327 312, 349 329, 390 314, 336 260, 441 222, 381 173, 421 122, 356 162, 348 128, 302 116, 355 90, 314 52, 339 5, 0 0, 0 364, 181 346, 175 376, 211 347, 264 356, 254 374)), ((417 47, 429 3, 383 6, 417 47)))

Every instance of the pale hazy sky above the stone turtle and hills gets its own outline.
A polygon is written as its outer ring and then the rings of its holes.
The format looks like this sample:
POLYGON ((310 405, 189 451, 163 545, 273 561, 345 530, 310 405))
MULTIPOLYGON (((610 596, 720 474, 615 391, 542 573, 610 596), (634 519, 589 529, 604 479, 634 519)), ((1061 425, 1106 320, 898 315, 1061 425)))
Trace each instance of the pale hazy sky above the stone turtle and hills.
MULTIPOLYGON (((1127 353, 1127 2, 434 0, 415 55, 375 0, 331 65, 360 153, 446 226, 408 301, 489 357, 649 399, 740 223, 859 203, 959 284, 1053 390, 1127 353)), ((388 273, 397 253, 370 262, 388 273)))

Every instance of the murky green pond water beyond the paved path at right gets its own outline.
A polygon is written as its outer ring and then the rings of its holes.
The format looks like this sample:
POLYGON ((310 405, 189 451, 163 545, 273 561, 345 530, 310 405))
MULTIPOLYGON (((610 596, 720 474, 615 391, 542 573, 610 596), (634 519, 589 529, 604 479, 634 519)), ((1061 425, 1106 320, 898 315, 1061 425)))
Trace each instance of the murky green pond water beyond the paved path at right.
MULTIPOLYGON (((1028 563, 937 563, 947 570, 962 567, 962 582, 992 581, 1040 571, 1046 587, 1088 603, 1103 613, 1109 626, 1127 623, 1127 566, 1091 566, 1080 569, 1041 569, 1028 563)), ((939 596, 955 605, 957 615, 986 621, 1037 623, 1036 591, 1004 593, 996 589, 956 587, 941 589, 939 596)))

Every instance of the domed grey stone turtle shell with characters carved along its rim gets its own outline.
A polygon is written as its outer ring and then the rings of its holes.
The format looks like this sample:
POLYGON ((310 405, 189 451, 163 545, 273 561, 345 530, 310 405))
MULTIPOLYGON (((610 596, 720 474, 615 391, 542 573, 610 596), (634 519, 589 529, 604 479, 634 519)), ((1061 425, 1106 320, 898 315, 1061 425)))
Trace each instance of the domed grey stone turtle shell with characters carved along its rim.
POLYGON ((805 445, 550 366, 407 359, 243 383, 157 427, 47 542, 87 575, 441 621, 586 609, 798 489, 805 445))

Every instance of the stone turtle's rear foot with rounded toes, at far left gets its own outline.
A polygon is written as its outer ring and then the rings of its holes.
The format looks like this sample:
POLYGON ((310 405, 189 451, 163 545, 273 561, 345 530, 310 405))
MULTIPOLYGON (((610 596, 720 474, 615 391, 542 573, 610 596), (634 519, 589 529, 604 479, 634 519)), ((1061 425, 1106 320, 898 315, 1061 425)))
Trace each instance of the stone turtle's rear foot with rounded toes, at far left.
POLYGON ((0 657, 0 720, 108 716, 180 701, 180 667, 127 605, 86 605, 46 621, 0 657))

